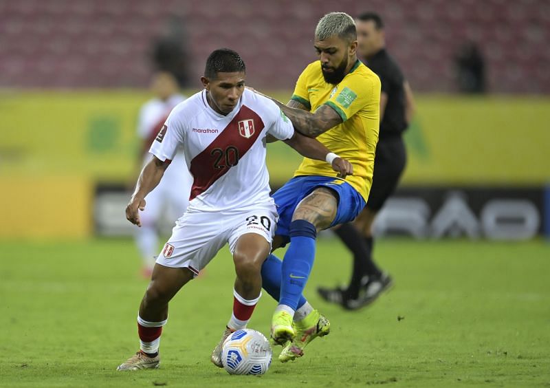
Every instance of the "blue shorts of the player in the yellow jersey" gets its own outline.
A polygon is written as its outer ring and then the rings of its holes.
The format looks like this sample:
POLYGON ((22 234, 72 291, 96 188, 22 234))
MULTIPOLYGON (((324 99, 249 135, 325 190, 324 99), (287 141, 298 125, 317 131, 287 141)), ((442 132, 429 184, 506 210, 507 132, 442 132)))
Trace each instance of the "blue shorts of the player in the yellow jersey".
POLYGON ((304 197, 307 197, 311 191, 314 191, 318 187, 331 188, 338 194, 338 210, 329 228, 353 221, 365 206, 365 200, 363 200, 360 193, 345 180, 318 175, 293 177, 273 195, 275 205, 277 206, 277 213, 279 214, 275 235, 288 237, 288 229, 292 222, 292 215, 294 215, 296 206, 298 206, 298 203, 304 197))

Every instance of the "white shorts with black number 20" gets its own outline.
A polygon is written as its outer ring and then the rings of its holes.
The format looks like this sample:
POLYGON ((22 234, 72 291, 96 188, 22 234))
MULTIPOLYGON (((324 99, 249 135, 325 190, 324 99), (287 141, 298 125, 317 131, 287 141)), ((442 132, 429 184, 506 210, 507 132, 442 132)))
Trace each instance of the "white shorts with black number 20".
POLYGON ((236 241, 246 233, 261 235, 271 245, 277 221, 274 204, 239 212, 187 211, 177 220, 157 263, 189 268, 196 277, 226 243, 233 254, 236 241))

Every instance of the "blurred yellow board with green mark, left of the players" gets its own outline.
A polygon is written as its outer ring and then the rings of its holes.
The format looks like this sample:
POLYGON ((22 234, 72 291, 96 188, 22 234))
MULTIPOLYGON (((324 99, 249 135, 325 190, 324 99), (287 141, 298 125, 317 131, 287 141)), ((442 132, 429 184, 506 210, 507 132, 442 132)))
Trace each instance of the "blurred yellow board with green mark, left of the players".
POLYGON ((0 176, 75 174, 121 180, 135 162, 142 91, 0 95, 0 176))

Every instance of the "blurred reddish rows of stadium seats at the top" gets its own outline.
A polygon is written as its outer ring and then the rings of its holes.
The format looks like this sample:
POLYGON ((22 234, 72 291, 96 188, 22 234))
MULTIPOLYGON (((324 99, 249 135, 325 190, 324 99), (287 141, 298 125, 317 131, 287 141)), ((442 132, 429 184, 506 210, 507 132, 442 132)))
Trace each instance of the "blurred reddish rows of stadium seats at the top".
POLYGON ((380 13, 417 91, 455 91, 460 58, 480 55, 488 90, 550 92, 544 0, 2 0, 0 86, 145 87, 145 58, 162 40, 184 54, 177 72, 186 86, 197 87, 204 58, 228 46, 248 64, 250 83, 292 88, 313 58, 316 22, 333 10, 380 13))

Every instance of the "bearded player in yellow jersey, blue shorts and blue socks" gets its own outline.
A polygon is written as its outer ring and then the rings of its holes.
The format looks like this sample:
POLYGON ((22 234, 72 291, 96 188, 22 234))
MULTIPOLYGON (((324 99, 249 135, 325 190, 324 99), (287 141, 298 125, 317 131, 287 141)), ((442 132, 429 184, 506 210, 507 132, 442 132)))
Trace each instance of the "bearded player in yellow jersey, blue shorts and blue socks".
POLYGON ((263 264, 263 288, 278 300, 272 338, 285 345, 287 360, 303 354, 316 336, 329 332, 329 322, 302 297, 314 263, 319 230, 350 222, 369 197, 378 141, 380 79, 358 61, 355 22, 332 12, 320 19, 314 46, 319 60, 308 65, 288 105, 278 103, 294 127, 333 150, 327 163, 305 158, 273 197, 279 221, 273 248, 290 242, 283 263, 270 255, 263 264), (353 164, 353 176, 339 178, 332 158, 353 164), (294 320, 294 325, 293 325, 294 320))

